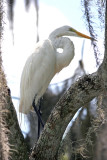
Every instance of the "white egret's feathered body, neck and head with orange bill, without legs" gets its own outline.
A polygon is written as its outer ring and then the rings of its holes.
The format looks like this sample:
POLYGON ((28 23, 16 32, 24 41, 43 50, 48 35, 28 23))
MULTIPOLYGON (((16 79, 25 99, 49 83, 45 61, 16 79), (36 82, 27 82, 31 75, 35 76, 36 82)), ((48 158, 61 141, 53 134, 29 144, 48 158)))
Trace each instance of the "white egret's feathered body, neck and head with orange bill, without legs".
POLYGON ((38 42, 34 53, 27 59, 20 82, 19 112, 27 114, 45 93, 54 75, 68 66, 74 57, 74 44, 64 36, 76 36, 92 39, 70 26, 54 30, 47 40, 38 42), (57 49, 63 52, 58 53, 57 49), (36 96, 35 96, 36 95, 36 96))

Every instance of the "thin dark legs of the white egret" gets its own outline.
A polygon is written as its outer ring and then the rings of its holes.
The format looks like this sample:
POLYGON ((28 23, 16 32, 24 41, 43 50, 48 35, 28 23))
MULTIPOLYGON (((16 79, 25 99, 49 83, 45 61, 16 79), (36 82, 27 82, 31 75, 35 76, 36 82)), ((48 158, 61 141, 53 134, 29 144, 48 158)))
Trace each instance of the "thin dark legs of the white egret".
POLYGON ((42 121, 42 119, 41 119, 41 113, 40 113, 40 108, 41 108, 41 106, 40 106, 40 104, 39 104, 39 109, 37 109, 37 107, 36 107, 36 105, 35 105, 35 98, 34 98, 34 100, 33 100, 32 106, 33 106, 33 108, 34 108, 34 110, 35 110, 35 112, 36 112, 36 114, 37 114, 37 116, 38 116, 38 138, 39 138, 39 135, 40 135, 40 124, 41 124, 42 127, 44 128, 44 124, 43 124, 43 121, 42 121))

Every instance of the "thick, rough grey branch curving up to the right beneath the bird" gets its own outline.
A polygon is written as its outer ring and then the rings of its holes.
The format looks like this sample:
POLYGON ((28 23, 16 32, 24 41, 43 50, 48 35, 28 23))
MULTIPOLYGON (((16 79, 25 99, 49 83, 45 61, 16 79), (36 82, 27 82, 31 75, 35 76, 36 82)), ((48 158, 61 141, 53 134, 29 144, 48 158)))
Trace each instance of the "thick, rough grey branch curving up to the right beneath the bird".
POLYGON ((97 73, 79 79, 53 109, 31 154, 36 160, 56 159, 63 133, 77 110, 98 96, 102 83, 97 73))

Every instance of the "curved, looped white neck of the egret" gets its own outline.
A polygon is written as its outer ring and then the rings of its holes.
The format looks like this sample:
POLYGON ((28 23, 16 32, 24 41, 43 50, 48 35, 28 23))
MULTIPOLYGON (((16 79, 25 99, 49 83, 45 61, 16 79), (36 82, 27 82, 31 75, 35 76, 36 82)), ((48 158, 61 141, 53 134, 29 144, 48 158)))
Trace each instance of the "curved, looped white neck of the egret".
POLYGON ((56 73, 60 72, 64 67, 68 66, 74 57, 73 42, 67 37, 58 37, 51 39, 56 50, 56 73), (62 48, 63 52, 57 52, 58 48, 62 48))

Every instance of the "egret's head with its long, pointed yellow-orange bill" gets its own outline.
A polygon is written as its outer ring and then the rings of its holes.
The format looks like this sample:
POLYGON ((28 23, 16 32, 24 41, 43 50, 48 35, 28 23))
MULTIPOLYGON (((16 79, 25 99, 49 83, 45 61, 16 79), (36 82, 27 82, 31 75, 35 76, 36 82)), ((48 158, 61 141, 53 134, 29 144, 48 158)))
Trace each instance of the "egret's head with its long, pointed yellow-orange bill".
POLYGON ((74 28, 70 26, 63 26, 54 30, 49 37, 61 37, 61 36, 74 36, 74 37, 81 37, 93 40, 92 37, 89 37, 83 33, 78 32, 74 28))

